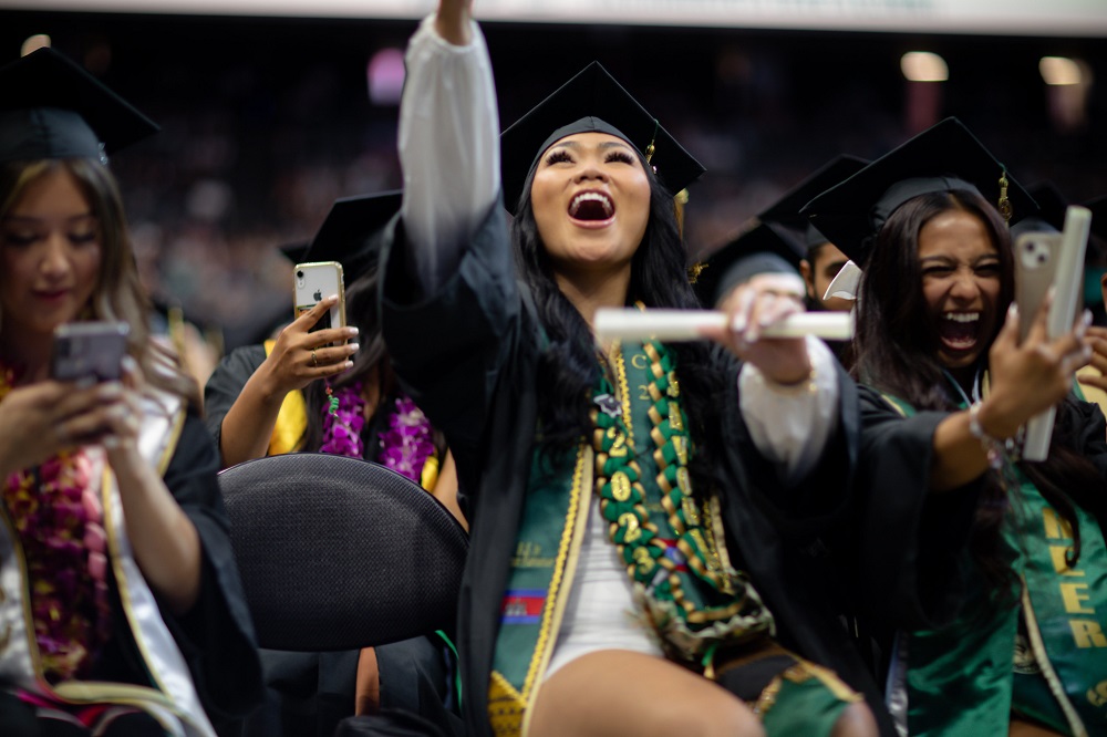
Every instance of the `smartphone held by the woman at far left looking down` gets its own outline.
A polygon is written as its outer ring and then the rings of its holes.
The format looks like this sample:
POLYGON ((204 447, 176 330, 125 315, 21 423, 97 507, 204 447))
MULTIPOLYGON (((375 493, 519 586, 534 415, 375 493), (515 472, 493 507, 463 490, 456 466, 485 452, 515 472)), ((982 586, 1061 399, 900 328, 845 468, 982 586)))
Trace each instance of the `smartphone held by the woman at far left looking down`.
POLYGON ((117 381, 131 328, 125 322, 69 322, 54 330, 50 374, 59 381, 117 381))

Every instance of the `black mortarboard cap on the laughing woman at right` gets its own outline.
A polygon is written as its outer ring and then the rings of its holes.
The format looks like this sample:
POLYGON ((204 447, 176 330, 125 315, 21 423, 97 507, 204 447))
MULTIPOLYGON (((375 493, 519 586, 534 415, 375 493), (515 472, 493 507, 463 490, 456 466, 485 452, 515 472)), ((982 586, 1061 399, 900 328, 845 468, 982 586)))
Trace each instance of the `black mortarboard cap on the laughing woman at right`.
MULTIPOLYGON (((948 117, 820 194, 801 211, 863 267, 877 233, 900 205, 929 193, 969 190, 997 206, 1004 172, 961 121, 948 117)), ((1006 178, 1013 224, 1037 206, 1010 173, 1006 178)))

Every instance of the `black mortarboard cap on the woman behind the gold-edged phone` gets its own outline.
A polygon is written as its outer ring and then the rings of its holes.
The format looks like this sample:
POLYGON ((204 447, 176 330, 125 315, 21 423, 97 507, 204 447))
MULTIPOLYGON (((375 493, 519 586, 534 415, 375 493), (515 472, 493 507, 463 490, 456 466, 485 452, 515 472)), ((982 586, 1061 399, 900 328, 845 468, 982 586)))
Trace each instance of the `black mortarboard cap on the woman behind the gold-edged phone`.
POLYGON ((396 189, 334 200, 303 260, 338 261, 346 283, 355 280, 376 262, 401 196, 396 189))

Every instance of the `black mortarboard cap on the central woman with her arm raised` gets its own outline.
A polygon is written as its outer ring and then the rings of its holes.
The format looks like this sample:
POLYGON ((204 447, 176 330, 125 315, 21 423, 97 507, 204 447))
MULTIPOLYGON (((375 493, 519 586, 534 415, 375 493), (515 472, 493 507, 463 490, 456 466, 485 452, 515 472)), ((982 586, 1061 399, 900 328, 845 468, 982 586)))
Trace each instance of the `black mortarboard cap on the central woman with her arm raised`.
POLYGON ((643 154, 652 143, 650 164, 673 195, 704 172, 651 113, 599 62, 592 62, 500 135, 507 209, 515 214, 527 176, 551 144, 591 131, 618 136, 643 154))

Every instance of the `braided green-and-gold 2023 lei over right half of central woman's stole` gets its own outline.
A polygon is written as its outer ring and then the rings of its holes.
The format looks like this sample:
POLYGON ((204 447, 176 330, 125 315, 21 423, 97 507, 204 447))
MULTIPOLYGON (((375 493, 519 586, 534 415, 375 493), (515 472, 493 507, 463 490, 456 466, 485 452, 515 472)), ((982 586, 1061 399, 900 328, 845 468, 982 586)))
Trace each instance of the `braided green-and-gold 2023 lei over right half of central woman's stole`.
POLYGON ((612 364, 618 395, 601 375, 591 413, 600 513, 666 654, 710 668, 720 642, 772 633, 773 617, 731 565, 717 499, 692 495, 673 355, 649 341, 612 364))

